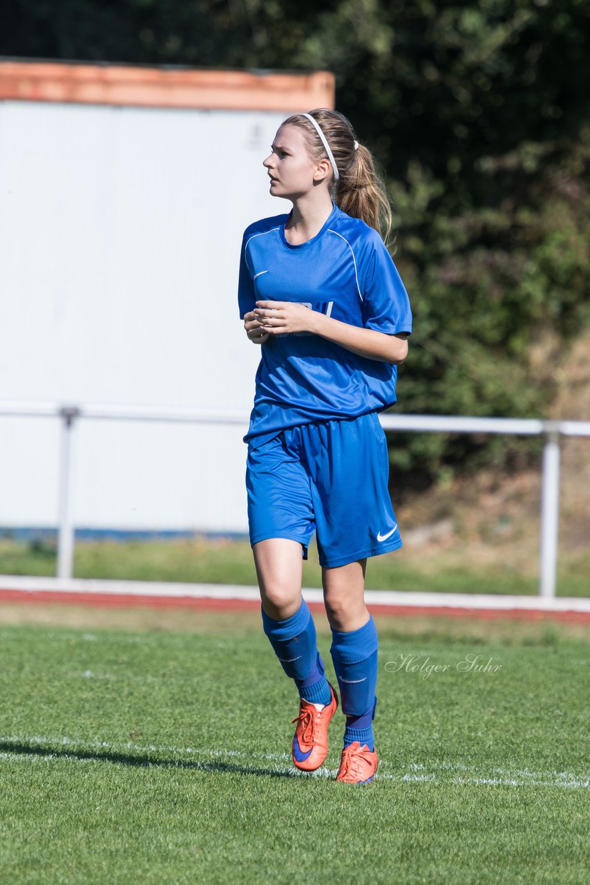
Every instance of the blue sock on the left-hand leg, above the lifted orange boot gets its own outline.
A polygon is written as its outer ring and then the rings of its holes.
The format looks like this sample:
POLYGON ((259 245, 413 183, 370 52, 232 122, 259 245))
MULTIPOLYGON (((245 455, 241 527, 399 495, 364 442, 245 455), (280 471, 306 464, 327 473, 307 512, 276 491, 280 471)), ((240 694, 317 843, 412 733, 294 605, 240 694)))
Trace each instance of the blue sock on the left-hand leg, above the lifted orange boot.
POLYGON ((314 704, 329 704, 332 697, 324 661, 318 652, 316 626, 302 598, 297 612, 287 620, 273 620, 261 606, 264 633, 287 676, 295 680, 299 696, 314 704))

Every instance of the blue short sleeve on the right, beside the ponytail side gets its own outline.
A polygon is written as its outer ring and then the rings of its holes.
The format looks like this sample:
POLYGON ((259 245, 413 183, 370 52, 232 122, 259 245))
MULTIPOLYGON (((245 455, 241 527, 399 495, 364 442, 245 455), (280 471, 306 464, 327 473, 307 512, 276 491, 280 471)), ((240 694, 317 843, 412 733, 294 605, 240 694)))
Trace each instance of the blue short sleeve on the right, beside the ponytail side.
POLYGON ((371 237, 361 277, 363 323, 387 335, 412 330, 410 299, 393 258, 377 232, 371 237))

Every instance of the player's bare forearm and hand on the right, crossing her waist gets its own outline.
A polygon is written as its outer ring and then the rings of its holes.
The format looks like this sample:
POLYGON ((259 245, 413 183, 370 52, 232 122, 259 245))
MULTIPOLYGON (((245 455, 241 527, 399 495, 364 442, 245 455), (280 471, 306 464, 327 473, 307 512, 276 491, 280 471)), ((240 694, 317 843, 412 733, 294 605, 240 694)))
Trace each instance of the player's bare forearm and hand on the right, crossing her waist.
POLYGON ((343 323, 292 301, 257 301, 254 310, 269 335, 310 332, 340 344, 359 357, 398 366, 408 355, 408 333, 389 334, 343 323))

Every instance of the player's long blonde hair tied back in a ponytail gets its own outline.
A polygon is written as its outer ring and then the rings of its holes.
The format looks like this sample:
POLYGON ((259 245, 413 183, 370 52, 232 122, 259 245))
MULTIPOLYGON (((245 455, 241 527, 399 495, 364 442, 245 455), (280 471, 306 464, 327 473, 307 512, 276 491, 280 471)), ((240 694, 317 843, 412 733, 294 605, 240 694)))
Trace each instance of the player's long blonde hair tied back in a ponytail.
MULTIPOLYGON (((332 150, 340 178, 332 174, 330 193, 342 212, 352 215, 374 227, 387 242, 392 228, 391 205, 387 190, 371 151, 363 144, 355 148, 356 136, 349 119, 338 111, 316 108, 310 111, 332 150)), ((315 127, 303 113, 295 113, 283 120, 282 126, 297 126, 304 130, 310 156, 319 160, 326 157, 326 148, 315 127)))

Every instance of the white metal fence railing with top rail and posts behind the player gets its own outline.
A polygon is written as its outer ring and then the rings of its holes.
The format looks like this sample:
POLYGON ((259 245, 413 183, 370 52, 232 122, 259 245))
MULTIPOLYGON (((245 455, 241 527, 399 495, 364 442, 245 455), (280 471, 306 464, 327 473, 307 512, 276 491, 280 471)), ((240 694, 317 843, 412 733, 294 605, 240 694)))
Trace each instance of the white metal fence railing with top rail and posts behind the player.
MULTIPOLYGON (((130 405, 62 405, 57 403, 0 402, 0 416, 61 420, 57 577, 73 574, 75 527, 73 520, 73 432, 79 420, 157 421, 189 424, 248 426, 247 412, 207 409, 144 408, 130 405)), ((445 415, 380 414, 386 431, 414 433, 542 435, 540 505, 540 596, 556 595, 557 529, 559 519, 560 438, 590 436, 590 421, 551 421, 516 418, 464 418, 445 415)))

